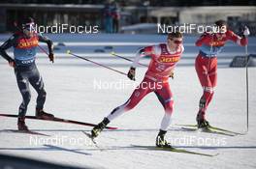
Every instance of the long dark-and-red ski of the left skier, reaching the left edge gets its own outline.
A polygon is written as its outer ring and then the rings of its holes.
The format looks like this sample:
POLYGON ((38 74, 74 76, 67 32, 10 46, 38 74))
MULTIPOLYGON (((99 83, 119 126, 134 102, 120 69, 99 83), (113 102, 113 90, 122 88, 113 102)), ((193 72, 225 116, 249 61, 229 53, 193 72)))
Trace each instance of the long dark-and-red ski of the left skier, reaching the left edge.
MULTIPOLYGON (((1 116, 2 117, 17 118, 17 115, 13 115, 13 114, 0 114, 0 117, 1 116)), ((75 125, 87 126, 87 127, 97 126, 95 124, 89 124, 89 123, 84 123, 84 122, 80 122, 80 121, 73 121, 73 120, 62 119, 62 118, 57 118, 57 117, 54 117, 53 119, 39 119, 36 116, 26 116, 26 119, 60 122, 60 123, 75 124, 75 125)), ((106 127, 106 128, 108 128, 108 129, 117 129, 117 127, 106 127)))

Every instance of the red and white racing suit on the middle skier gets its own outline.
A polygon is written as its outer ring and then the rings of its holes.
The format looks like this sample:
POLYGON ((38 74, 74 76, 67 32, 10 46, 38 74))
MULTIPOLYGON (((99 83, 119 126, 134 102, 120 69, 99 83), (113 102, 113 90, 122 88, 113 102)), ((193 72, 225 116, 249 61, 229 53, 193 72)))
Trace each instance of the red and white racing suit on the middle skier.
MULTIPOLYGON (((147 94, 154 92, 165 109, 161 129, 167 130, 167 127, 171 123, 171 115, 174 107, 173 94, 168 79, 170 73, 175 69, 183 50, 183 45, 179 45, 176 47, 176 51, 172 52, 166 43, 144 47, 144 56, 151 57, 148 70, 144 75, 144 80, 135 89, 130 99, 114 108, 107 118, 112 121, 112 119, 121 115, 123 112, 134 108, 147 94)), ((133 67, 138 64, 141 57, 141 54, 137 55, 133 67)))

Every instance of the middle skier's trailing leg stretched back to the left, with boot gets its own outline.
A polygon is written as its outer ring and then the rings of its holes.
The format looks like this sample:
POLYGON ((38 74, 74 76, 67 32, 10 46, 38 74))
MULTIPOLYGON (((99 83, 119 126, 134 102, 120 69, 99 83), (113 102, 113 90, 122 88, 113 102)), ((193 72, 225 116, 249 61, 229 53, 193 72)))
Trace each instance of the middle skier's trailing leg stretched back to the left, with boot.
POLYGON ((144 98, 144 96, 151 92, 149 83, 150 81, 144 79, 144 81, 136 88, 136 90, 134 90, 130 99, 128 99, 124 104, 115 107, 100 124, 98 124, 96 127, 93 127, 91 130, 91 136, 93 138, 97 137, 113 119, 134 108, 144 98))

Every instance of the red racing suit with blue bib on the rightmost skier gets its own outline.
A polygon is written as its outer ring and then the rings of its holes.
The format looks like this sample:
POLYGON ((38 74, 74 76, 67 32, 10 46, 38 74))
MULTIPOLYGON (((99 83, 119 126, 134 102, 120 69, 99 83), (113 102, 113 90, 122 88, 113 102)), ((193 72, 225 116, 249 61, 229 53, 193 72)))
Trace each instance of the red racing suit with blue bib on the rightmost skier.
POLYGON ((203 119, 205 119, 208 103, 213 97, 213 88, 217 82, 217 54, 221 52, 227 41, 236 42, 240 45, 246 45, 248 43, 247 38, 244 36, 240 38, 230 30, 225 34, 205 33, 196 42, 196 45, 199 46, 199 54, 196 58, 195 69, 204 91, 200 99, 199 108, 203 119))

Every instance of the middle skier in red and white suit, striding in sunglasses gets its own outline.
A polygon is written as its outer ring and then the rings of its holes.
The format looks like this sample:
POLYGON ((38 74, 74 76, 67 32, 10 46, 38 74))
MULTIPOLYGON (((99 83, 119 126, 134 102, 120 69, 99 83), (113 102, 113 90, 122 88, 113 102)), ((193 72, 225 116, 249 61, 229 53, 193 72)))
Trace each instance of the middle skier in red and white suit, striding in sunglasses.
POLYGON ((167 41, 167 43, 146 46, 138 52, 133 66, 128 72, 128 77, 134 80, 135 70, 139 60, 142 56, 150 56, 151 61, 148 70, 145 72, 144 80, 137 89, 135 89, 130 99, 124 104, 114 108, 98 126, 91 130, 91 136, 93 138, 98 136, 113 119, 134 108, 147 94, 154 92, 165 109, 160 131, 156 138, 156 146, 171 146, 164 138, 171 124, 171 116, 174 109, 173 94, 168 80, 170 75, 173 75, 173 70, 180 59, 184 47, 182 45, 182 34, 179 32, 169 34, 167 41))

